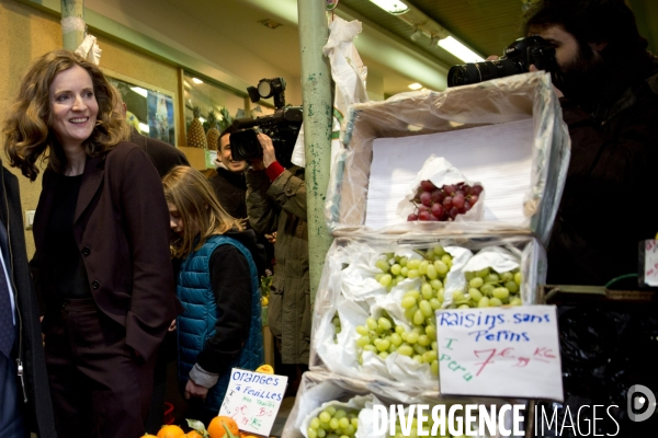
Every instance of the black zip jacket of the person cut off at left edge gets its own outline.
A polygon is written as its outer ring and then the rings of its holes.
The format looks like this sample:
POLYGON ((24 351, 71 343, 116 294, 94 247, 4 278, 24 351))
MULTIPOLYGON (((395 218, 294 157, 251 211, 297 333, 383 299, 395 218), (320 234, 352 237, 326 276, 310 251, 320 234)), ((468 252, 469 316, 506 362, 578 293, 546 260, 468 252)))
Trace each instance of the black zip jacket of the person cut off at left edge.
MULTIPOLYGON (((21 315, 21 319, 16 321, 20 321, 21 324, 22 343, 19 358, 23 365, 25 396, 27 397, 26 420, 30 429, 37 433, 39 438, 52 438, 57 437, 57 433, 55 431, 50 388, 46 373, 46 359, 42 346, 39 312, 27 267, 19 182, 15 175, 7 169, 2 168, 1 172, 0 219, 9 238, 11 257, 5 260, 5 263, 8 268, 11 263, 9 274, 14 296, 18 297, 16 304, 21 315)), ((18 387, 21 388, 20 382, 18 387)))

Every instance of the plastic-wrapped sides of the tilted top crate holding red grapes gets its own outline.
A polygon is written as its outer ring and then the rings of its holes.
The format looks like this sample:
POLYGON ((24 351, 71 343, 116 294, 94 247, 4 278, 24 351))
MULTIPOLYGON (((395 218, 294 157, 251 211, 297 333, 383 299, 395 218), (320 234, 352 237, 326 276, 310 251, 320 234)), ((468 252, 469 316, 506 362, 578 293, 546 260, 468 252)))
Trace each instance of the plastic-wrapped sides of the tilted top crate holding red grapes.
MULTIPOLYGON (((364 228, 373 141, 469 129, 485 125, 533 120, 532 170, 529 193, 519 207, 518 223, 432 222, 434 230, 500 232, 530 230, 547 242, 566 177, 570 140, 561 110, 544 72, 518 74, 444 92, 397 94, 384 102, 354 104, 343 122, 345 149, 337 159, 327 203, 326 220, 336 231, 367 232, 364 228)), ((469 153, 498 145, 504 153, 504 136, 492 138, 469 153)), ((451 157, 445 157, 451 160, 451 157)), ((478 175, 467 175, 477 180, 478 175)), ((421 224, 422 226, 422 224, 421 224)), ((385 231, 416 231, 418 222, 392 224, 385 231)), ((423 228, 424 229, 424 228, 423 228)))

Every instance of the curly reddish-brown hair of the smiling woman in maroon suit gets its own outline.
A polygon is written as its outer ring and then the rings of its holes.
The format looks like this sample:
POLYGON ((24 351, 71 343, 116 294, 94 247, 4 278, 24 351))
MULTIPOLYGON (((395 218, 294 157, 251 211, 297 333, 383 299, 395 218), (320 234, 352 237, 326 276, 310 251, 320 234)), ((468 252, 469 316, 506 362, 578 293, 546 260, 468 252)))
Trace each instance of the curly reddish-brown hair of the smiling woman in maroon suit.
POLYGON ((31 181, 36 178, 36 160, 48 159, 48 166, 64 173, 66 157, 50 130, 50 84, 61 71, 75 66, 83 68, 93 83, 99 104, 97 126, 82 147, 88 155, 98 155, 129 137, 125 118, 114 111, 118 94, 101 69, 84 58, 68 51, 54 50, 35 59, 23 77, 19 94, 4 122, 4 150, 10 164, 21 169, 31 181), (47 150, 47 151, 46 151, 47 150))

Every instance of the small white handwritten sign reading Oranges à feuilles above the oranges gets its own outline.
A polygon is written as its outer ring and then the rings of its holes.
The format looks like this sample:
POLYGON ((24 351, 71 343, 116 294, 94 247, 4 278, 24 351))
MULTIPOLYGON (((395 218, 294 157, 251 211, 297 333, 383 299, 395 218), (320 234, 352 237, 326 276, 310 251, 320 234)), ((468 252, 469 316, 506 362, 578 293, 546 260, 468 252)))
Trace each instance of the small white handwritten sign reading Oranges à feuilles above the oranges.
POLYGON ((231 417, 240 430, 269 436, 287 387, 287 377, 234 368, 219 415, 231 417))

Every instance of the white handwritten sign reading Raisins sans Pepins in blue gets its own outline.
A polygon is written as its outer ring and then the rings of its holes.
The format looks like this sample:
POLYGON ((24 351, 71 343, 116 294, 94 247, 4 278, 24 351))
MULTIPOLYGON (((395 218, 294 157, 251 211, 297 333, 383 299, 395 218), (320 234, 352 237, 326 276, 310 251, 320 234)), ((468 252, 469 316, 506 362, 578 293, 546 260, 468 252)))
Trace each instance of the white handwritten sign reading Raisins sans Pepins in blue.
POLYGON ((554 306, 436 311, 444 394, 563 401, 554 306))

